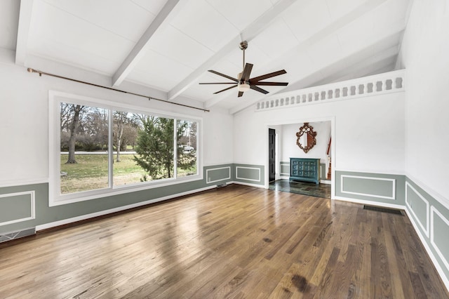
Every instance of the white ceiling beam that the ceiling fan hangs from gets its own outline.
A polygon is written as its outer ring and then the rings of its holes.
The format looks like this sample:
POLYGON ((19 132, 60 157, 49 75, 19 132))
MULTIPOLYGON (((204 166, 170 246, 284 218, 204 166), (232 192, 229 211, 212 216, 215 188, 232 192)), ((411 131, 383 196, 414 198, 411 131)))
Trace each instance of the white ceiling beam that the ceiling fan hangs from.
MULTIPOLYGON (((311 0, 307 0, 311 1, 311 0)), ((295 3, 295 0, 280 0, 276 3, 269 11, 265 12, 261 15, 257 20, 248 25, 239 36, 236 36, 232 41, 222 47, 220 51, 217 51, 211 58, 209 58, 206 62, 200 65, 198 68, 189 74, 184 80, 182 80, 179 84, 173 87, 170 91, 168 91, 168 100, 173 100, 182 92, 184 92, 189 86, 192 86, 196 80, 201 77, 204 72, 207 72, 210 67, 215 65, 216 62, 225 58, 229 53, 234 50, 237 46, 239 46, 241 41, 250 41, 254 39, 255 36, 260 34, 265 28, 268 27, 276 18, 287 8, 289 8, 292 4, 295 3)))

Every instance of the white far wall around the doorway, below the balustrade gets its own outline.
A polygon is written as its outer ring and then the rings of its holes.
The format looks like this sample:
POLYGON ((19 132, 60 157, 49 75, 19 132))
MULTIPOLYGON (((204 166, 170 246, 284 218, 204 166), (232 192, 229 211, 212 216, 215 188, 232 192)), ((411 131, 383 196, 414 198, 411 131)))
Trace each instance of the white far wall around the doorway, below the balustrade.
POLYGON ((235 163, 264 165, 269 124, 335 118, 333 168, 341 171, 404 173, 404 93, 341 100, 234 116, 235 163))

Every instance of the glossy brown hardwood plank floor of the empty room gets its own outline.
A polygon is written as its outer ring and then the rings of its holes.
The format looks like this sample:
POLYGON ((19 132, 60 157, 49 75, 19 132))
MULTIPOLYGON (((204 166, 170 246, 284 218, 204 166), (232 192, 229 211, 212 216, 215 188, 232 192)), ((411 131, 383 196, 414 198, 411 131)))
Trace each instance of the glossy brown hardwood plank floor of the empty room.
POLYGON ((0 245, 0 298, 449 298, 406 216, 230 185, 0 245))

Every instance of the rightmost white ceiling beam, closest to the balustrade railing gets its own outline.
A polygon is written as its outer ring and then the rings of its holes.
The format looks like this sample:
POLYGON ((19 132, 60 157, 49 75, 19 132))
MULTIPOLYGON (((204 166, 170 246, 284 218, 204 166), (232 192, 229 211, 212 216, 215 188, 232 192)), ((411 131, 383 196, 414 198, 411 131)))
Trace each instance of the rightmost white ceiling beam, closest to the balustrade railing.
MULTIPOLYGON (((369 55, 369 53, 372 52, 373 46, 376 46, 377 44, 382 43, 382 41, 385 41, 386 39, 389 39, 391 36, 394 36, 395 34, 398 34, 399 32, 402 32, 403 30, 404 30, 404 27, 402 25, 392 26, 392 27, 389 28, 388 32, 384 32, 384 34, 382 34, 382 36, 377 36, 376 39, 373 39, 371 44, 369 44, 368 46, 364 47, 363 49, 358 49, 357 51, 354 51, 353 53, 349 53, 348 55, 340 58, 339 60, 335 61, 334 63, 332 63, 330 65, 327 65, 323 69, 317 69, 316 72, 314 72, 313 74, 309 74, 309 76, 307 76, 307 77, 299 79, 298 81, 295 81, 295 82, 290 82, 289 87, 304 85, 304 81, 307 82, 307 84, 305 84, 305 85, 311 86, 311 84, 314 84, 314 83, 322 80, 321 74, 319 76, 320 79, 318 79, 318 80, 314 79, 317 74, 319 74, 319 73, 321 73, 323 71, 325 72, 326 69, 328 69, 328 68, 335 67, 336 64, 344 65, 345 64, 344 60, 347 60, 348 58, 351 58, 351 56, 353 56, 353 55, 359 55, 360 53, 364 53, 364 52, 366 52, 367 55, 369 55)), ((295 89, 301 89, 301 88, 304 88, 304 86, 303 87, 297 87, 295 89)), ((295 89, 293 89, 293 90, 295 90, 295 89)), ((286 90, 286 88, 282 88, 277 93, 282 93, 285 90, 286 90)), ((287 91, 291 91, 291 89, 288 88, 287 91)), ((259 97, 253 98, 253 100, 250 100, 250 101, 242 101, 240 105, 237 105, 237 106, 232 107, 231 109, 229 109, 229 113, 230 114, 235 114, 235 113, 245 109, 246 107, 249 107, 250 105, 255 104, 255 102, 258 102, 258 101, 262 100, 262 98, 267 98, 267 95, 260 95, 259 97)))

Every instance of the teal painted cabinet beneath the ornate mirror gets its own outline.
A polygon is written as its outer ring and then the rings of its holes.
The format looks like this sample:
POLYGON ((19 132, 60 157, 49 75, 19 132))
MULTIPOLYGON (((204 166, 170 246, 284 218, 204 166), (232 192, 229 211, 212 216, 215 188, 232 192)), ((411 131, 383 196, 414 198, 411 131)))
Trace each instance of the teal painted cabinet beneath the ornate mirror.
POLYGON ((290 158, 290 180, 320 182, 320 159, 290 158))

